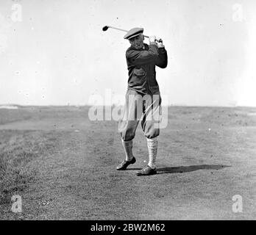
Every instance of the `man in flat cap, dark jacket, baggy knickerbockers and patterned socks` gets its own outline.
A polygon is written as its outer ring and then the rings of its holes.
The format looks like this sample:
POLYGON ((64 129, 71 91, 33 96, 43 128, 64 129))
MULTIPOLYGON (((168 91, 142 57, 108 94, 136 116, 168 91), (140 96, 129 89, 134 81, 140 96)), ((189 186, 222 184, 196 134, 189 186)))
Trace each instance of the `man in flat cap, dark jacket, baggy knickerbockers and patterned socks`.
POLYGON ((138 122, 147 140, 149 162, 145 168, 136 172, 137 176, 149 176, 157 173, 157 137, 160 134, 159 115, 161 109, 160 90, 156 80, 155 65, 167 66, 167 51, 162 40, 149 37, 149 45, 143 43, 143 28, 130 29, 124 36, 131 46, 126 51, 128 66, 128 89, 123 116, 118 123, 118 132, 124 146, 126 159, 118 164, 117 170, 126 170, 129 164, 136 162, 132 154, 132 140, 138 122), (158 124, 158 125, 157 125, 158 124))

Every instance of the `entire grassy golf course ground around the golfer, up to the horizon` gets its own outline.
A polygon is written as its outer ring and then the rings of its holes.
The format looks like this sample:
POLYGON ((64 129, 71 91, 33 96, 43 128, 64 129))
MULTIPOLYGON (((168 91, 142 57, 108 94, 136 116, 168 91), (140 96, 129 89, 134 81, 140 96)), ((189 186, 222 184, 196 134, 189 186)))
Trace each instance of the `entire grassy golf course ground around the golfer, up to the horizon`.
POLYGON ((141 126, 136 164, 115 170, 124 151, 115 121, 88 120, 88 107, 0 109, 0 219, 255 220, 256 109, 174 107, 159 137, 158 174, 141 126), (21 195, 23 211, 11 211, 21 195), (232 196, 243 212, 232 211, 232 196))

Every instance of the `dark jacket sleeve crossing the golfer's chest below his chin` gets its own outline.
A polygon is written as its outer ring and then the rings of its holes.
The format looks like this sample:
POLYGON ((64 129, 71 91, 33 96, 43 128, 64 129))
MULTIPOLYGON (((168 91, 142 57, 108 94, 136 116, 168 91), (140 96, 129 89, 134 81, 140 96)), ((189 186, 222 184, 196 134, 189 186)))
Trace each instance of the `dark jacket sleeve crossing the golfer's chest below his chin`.
POLYGON ((149 51, 127 50, 127 59, 133 65, 143 65, 153 62, 158 57, 158 48, 156 44, 149 45, 149 51))

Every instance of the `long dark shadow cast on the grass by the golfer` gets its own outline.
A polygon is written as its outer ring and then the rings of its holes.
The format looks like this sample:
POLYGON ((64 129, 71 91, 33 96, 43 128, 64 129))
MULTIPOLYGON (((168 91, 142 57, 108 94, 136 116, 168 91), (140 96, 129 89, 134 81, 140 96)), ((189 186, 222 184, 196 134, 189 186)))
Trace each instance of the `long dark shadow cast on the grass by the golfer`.
POLYGON ((192 165, 192 166, 181 166, 181 167, 164 167, 157 169, 157 174, 168 174, 168 173, 187 173, 191 171, 196 170, 220 170, 225 167, 231 167, 226 166, 223 164, 198 164, 198 165, 192 165))

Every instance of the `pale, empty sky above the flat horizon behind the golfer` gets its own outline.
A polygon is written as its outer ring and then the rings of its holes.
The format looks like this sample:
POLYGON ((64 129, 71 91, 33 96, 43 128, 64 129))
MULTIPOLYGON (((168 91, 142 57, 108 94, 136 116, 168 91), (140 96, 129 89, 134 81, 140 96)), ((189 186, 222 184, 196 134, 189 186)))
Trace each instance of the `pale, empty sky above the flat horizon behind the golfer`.
POLYGON ((0 0, 0 104, 124 98, 129 42, 110 25, 163 38, 163 104, 256 106, 255 15, 253 0, 0 0))

